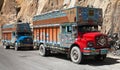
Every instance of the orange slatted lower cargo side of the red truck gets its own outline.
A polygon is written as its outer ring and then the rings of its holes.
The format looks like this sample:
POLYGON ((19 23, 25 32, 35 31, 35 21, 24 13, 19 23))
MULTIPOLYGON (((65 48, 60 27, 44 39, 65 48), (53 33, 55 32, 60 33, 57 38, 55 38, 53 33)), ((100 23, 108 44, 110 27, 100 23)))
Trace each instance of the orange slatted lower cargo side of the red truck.
POLYGON ((60 27, 40 27, 34 28, 34 40, 46 43, 59 44, 60 27))

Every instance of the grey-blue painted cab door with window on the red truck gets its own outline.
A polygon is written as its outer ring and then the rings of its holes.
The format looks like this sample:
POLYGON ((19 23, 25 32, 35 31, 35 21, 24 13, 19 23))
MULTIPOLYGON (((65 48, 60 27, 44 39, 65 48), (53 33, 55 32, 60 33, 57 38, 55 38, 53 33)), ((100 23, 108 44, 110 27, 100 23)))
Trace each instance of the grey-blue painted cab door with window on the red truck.
POLYGON ((61 47, 69 48, 74 43, 74 28, 72 25, 61 25, 60 45, 61 47))

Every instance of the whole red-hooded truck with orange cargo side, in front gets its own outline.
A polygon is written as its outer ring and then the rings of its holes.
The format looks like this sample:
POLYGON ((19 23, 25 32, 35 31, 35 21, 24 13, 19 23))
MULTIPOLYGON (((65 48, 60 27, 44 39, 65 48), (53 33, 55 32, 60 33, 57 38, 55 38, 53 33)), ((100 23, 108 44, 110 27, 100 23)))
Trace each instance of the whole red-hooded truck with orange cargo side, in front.
POLYGON ((100 33, 102 9, 73 7, 52 11, 33 17, 34 46, 39 54, 52 52, 69 55, 74 63, 85 56, 104 60, 108 53, 108 37, 100 33))

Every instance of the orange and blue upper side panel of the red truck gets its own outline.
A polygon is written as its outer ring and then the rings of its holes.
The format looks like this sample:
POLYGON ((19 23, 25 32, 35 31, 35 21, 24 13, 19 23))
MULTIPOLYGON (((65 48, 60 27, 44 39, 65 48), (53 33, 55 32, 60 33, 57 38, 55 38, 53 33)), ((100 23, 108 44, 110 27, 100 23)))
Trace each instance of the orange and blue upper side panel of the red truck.
POLYGON ((52 11, 33 17, 33 25, 56 24, 76 21, 76 8, 52 11))

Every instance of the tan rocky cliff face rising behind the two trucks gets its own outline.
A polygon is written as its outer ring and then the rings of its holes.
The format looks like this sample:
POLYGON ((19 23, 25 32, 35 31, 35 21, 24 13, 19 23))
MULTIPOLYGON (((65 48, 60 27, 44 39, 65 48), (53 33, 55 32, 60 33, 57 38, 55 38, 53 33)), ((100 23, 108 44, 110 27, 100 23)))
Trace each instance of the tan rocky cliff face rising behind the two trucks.
POLYGON ((0 0, 0 24, 19 20, 32 23, 34 15, 88 5, 103 9, 103 33, 120 32, 120 0, 0 0))

